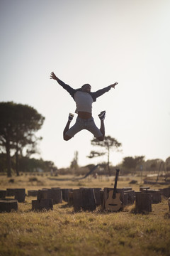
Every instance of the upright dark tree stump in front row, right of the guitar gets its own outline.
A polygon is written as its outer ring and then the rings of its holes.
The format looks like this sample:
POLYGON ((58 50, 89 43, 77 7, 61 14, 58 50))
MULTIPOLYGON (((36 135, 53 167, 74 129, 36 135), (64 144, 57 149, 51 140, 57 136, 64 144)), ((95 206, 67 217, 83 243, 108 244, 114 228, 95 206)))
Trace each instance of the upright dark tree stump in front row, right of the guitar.
POLYGON ((152 211, 152 199, 151 194, 136 192, 135 210, 137 213, 152 211))

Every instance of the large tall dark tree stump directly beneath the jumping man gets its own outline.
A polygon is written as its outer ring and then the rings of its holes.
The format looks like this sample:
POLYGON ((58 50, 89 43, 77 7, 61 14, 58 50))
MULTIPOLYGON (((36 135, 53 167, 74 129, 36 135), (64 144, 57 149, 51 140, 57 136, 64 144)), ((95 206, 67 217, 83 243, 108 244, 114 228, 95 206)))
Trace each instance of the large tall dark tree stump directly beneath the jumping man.
POLYGON ((94 188, 80 188, 82 195, 82 210, 96 210, 94 188))

